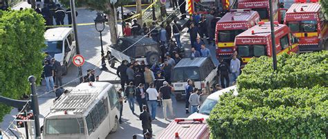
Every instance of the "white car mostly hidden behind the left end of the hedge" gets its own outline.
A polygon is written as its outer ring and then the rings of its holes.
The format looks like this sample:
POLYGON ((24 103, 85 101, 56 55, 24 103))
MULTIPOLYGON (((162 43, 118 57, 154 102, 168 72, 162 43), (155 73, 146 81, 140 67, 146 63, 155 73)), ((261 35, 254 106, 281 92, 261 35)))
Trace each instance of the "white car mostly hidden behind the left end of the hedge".
POLYGON ((206 100, 203 102, 203 104, 201 104, 201 106, 199 107, 199 111, 197 111, 196 113, 192 113, 191 115, 189 115, 188 118, 204 118, 204 119, 207 119, 208 117, 210 117, 210 111, 212 111, 214 106, 217 104, 217 101, 219 100, 219 97, 223 93, 227 93, 229 91, 233 91, 233 95, 238 95, 236 86, 230 86, 226 89, 216 91, 215 93, 212 93, 212 94, 208 95, 208 98, 206 98, 206 100))

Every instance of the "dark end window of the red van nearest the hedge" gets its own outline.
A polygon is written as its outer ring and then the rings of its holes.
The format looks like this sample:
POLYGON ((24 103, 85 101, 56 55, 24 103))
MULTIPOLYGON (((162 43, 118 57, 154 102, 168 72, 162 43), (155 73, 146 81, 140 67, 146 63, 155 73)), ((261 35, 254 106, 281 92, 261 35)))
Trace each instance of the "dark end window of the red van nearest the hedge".
POLYGON ((259 57, 266 55, 264 45, 237 46, 237 49, 241 57, 259 57))

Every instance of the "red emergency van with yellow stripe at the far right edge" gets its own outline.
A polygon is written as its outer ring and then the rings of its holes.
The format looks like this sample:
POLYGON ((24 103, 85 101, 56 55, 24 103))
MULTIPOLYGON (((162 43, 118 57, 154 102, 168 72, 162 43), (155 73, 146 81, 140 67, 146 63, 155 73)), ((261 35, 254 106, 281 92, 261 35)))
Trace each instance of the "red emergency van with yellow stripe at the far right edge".
POLYGON ((300 52, 322 50, 328 45, 328 24, 320 3, 293 3, 284 23, 300 39, 300 52))

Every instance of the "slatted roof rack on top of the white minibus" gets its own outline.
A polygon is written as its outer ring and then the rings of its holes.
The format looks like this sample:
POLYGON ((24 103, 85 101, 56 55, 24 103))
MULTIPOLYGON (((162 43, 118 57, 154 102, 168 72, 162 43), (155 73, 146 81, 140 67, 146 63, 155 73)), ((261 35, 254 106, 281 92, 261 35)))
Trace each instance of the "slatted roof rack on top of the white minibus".
POLYGON ((63 94, 50 110, 51 112, 73 111, 73 113, 84 113, 97 96, 98 93, 88 93, 87 90, 73 91, 63 94))

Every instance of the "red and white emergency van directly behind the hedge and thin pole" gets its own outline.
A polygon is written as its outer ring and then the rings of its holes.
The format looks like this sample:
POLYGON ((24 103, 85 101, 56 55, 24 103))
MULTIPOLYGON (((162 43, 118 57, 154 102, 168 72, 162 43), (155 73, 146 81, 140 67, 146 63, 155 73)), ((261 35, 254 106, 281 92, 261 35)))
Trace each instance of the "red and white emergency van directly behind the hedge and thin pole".
MULTIPOLYGON (((298 53, 298 39, 293 37, 288 26, 275 21, 275 48, 277 55, 282 53, 298 53)), ((238 54, 246 64, 252 57, 272 55, 270 22, 259 21, 257 26, 237 35, 235 45, 238 54)))

